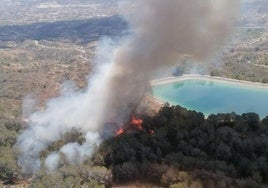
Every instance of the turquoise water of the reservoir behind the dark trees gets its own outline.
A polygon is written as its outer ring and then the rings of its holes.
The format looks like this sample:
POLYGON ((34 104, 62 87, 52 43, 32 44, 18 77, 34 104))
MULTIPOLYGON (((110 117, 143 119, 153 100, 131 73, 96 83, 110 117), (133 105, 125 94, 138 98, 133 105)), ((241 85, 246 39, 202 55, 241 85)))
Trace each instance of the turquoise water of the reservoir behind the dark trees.
POLYGON ((153 96, 205 115, 255 112, 268 115, 268 88, 189 79, 152 86, 153 96))

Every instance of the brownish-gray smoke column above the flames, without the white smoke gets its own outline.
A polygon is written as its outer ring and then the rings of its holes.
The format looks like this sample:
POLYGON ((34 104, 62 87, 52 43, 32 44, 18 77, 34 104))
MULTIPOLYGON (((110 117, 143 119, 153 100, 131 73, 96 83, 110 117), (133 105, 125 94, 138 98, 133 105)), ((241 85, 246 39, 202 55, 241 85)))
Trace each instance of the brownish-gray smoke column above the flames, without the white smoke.
POLYGON ((133 35, 116 49, 108 84, 111 117, 132 110, 155 70, 183 55, 206 60, 213 54, 230 33, 237 7, 234 0, 134 1, 126 15, 133 35))

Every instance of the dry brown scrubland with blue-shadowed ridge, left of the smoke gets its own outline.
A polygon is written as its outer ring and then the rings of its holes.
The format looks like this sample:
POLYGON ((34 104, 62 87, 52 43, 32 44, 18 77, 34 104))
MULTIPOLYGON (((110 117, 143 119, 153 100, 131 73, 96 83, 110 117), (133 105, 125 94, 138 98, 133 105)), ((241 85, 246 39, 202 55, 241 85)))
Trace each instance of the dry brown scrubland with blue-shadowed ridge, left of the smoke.
POLYGON ((0 117, 20 117, 23 98, 44 101, 64 81, 85 87, 96 41, 125 28, 117 16, 0 27, 0 117))

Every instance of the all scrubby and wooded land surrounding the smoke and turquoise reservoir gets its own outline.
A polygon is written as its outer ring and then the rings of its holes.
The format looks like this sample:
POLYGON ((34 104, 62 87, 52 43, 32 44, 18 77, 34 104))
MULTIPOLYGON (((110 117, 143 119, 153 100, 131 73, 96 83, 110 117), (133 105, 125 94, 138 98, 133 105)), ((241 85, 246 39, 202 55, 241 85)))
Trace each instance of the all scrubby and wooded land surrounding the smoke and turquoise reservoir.
MULTIPOLYGON (((148 96, 138 114, 153 135, 112 137, 81 165, 70 165, 61 156, 54 173, 42 168, 34 176, 22 176, 14 144, 27 117, 44 109, 65 82, 85 90, 95 71, 99 39, 128 34, 117 2, 0 1, 0 187, 267 187, 267 117, 228 113, 205 119, 168 105, 158 112, 162 103, 148 96)), ((216 57, 201 63, 186 58, 155 77, 201 73, 268 83, 267 28, 268 1, 242 0, 233 37, 216 57)), ((41 158, 84 140, 79 130, 66 132, 41 158)))

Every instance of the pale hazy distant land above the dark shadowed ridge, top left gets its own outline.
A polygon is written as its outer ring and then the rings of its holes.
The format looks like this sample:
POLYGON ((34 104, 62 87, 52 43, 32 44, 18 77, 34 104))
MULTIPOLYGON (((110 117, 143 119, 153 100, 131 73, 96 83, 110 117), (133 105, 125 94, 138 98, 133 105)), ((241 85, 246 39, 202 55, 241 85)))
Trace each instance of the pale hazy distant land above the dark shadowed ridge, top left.
POLYGON ((109 17, 117 12, 116 2, 117 0, 2 0, 0 25, 109 17))

